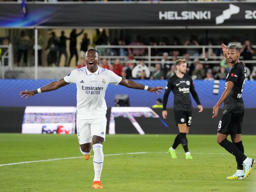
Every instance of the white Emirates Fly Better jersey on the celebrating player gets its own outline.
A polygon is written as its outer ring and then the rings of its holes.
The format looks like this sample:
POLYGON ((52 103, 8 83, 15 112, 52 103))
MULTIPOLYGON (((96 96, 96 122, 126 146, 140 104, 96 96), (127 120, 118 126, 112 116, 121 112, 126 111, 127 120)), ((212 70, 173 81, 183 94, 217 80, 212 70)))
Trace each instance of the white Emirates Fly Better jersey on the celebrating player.
POLYGON ((120 83, 122 77, 98 66, 94 73, 89 72, 87 67, 74 69, 64 77, 64 80, 77 84, 77 117, 89 120, 106 116, 106 88, 109 83, 120 83))

